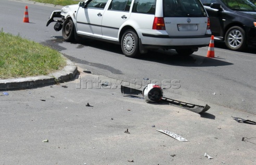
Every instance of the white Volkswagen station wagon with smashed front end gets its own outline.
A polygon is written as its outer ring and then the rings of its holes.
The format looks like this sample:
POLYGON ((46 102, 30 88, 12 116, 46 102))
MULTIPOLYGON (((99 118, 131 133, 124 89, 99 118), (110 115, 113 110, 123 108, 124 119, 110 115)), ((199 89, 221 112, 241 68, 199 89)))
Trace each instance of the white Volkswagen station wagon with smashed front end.
POLYGON ((51 22, 66 41, 89 37, 117 43, 129 57, 151 49, 190 55, 208 46, 211 37, 200 0, 88 0, 53 11, 46 26, 51 22))

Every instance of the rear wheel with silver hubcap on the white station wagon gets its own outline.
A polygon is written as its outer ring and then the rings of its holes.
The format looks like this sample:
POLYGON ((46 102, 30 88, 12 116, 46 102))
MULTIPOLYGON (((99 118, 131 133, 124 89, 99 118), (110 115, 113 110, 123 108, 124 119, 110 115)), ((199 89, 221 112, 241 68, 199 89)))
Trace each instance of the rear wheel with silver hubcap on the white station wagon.
POLYGON ((127 57, 139 56, 138 35, 132 29, 128 29, 124 32, 121 39, 121 48, 123 54, 127 57))

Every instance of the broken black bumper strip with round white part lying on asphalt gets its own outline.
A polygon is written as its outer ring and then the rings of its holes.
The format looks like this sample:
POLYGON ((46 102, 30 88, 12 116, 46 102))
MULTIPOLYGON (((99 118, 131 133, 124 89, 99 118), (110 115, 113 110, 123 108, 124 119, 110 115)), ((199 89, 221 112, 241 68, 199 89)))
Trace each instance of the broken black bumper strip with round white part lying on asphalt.
MULTIPOLYGON (((135 88, 130 88, 121 85, 121 93, 126 96, 142 95, 142 97, 147 102, 158 102, 158 103, 167 103, 175 107, 187 109, 196 113, 203 113, 208 111, 211 107, 206 104, 206 106, 198 106, 196 104, 191 104, 183 101, 178 101, 170 98, 163 97, 162 88, 156 84, 148 84, 143 88, 143 91, 140 91, 135 88)), ((140 97, 140 98, 142 98, 140 97)))

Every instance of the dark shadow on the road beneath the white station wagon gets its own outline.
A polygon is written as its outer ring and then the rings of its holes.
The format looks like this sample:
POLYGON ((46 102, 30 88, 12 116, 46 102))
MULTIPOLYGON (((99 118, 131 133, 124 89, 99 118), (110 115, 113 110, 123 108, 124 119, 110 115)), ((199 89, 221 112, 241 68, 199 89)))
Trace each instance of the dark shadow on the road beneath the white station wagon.
MULTIPOLYGON (((59 46, 59 43, 66 42, 62 36, 53 36, 51 40, 42 42, 45 46, 49 46, 58 51, 65 50, 65 48, 59 46)), ((98 41, 93 39, 83 39, 71 42, 70 44, 77 45, 76 49, 83 49, 85 47, 93 47, 112 53, 123 55, 120 45, 108 43, 104 41, 98 41)), ((195 52, 189 56, 178 55, 175 50, 156 50, 148 51, 146 54, 140 55, 137 59, 141 61, 151 61, 161 64, 173 65, 173 66, 184 66, 184 67, 209 67, 209 66, 226 66, 233 65, 222 60, 222 58, 208 58, 206 56, 200 56, 195 52)))

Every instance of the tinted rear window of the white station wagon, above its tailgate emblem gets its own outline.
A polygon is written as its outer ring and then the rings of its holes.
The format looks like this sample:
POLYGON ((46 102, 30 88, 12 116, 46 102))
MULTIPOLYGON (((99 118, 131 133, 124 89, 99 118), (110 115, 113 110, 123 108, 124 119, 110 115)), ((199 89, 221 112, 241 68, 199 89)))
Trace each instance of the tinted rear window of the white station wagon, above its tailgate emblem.
POLYGON ((163 0, 164 17, 207 17, 200 0, 163 0))

